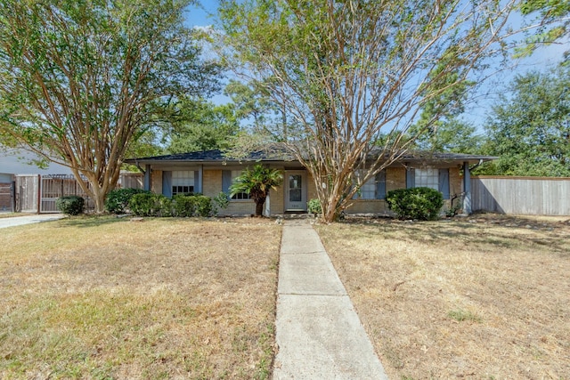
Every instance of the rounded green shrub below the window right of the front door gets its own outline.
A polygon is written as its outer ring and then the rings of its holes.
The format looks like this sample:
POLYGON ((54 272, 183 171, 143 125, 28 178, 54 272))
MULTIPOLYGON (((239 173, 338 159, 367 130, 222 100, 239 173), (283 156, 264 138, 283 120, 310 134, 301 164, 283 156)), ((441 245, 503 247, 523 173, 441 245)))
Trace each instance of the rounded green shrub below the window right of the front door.
POLYGON ((398 219, 434 220, 444 206, 444 197, 429 188, 398 189, 388 191, 387 205, 398 219))

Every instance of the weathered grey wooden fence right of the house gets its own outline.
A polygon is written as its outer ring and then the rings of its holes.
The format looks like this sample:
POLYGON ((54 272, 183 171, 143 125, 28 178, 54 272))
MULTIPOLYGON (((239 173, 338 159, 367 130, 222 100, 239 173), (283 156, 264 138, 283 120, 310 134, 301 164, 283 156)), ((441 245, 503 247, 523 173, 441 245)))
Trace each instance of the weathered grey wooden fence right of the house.
POLYGON ((570 215, 570 178, 476 176, 471 200, 473 211, 570 215))

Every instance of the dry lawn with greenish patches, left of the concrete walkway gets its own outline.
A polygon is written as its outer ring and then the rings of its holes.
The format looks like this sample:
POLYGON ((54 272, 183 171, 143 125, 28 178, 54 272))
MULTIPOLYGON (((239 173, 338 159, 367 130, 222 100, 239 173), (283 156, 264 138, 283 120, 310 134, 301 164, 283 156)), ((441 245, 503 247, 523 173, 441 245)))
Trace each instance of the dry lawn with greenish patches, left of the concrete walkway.
POLYGON ((0 378, 267 378, 281 229, 71 218, 0 233, 0 378))

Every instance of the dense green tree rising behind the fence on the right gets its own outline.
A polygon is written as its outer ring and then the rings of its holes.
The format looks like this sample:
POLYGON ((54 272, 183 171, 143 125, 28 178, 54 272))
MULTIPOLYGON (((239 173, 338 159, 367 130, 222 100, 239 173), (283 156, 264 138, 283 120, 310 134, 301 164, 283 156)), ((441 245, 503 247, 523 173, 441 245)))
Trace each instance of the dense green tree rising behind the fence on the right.
POLYGON ((531 72, 493 107, 485 153, 498 156, 481 174, 570 176, 570 68, 531 72))

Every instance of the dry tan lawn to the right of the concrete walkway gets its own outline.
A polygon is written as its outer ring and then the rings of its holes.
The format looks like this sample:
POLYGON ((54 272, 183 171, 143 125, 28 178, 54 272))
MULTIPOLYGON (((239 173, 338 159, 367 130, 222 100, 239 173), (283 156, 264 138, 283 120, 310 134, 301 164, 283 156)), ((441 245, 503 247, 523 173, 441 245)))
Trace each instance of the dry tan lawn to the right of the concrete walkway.
POLYGON ((570 378, 570 221, 316 229, 390 378, 570 378))

